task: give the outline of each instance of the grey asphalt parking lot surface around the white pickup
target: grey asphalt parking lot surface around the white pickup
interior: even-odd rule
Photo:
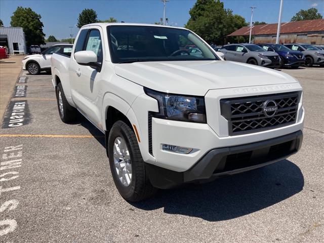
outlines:
[[[102,134],[82,116],[62,123],[51,76],[22,71],[1,129],[1,242],[323,242],[324,68],[282,71],[304,88],[298,154],[136,204],[114,186]]]

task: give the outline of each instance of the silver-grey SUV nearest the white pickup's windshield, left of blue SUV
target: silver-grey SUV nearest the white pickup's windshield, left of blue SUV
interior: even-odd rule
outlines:
[[[244,62],[270,68],[280,67],[280,58],[277,53],[265,51],[254,44],[225,45],[219,52],[224,53],[227,61]]]

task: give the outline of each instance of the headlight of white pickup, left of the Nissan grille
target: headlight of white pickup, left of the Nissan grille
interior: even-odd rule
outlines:
[[[207,123],[205,98],[201,96],[174,95],[144,88],[145,94],[157,100],[158,113],[163,119]]]

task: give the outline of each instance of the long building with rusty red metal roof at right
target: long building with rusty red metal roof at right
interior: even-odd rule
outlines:
[[[260,24],[252,27],[253,43],[275,43],[278,24]],[[249,36],[250,26],[242,27],[227,36]],[[324,19],[281,23],[280,44],[306,43],[324,45]]]

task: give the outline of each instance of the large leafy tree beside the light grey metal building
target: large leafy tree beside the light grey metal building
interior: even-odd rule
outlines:
[[[45,44],[45,34],[41,15],[35,13],[31,8],[18,7],[11,16],[12,27],[22,27],[26,36],[27,46]]]

